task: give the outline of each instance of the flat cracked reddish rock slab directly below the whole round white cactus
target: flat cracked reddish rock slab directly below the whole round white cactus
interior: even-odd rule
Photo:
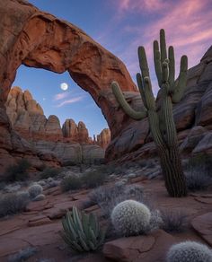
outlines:
[[[158,230],[149,235],[107,242],[103,254],[120,262],[164,262],[165,254],[173,243],[175,240],[170,234]]]

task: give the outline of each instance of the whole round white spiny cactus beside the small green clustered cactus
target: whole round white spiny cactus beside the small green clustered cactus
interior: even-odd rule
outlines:
[[[113,208],[111,222],[116,231],[124,236],[133,236],[146,231],[150,217],[151,213],[146,205],[135,200],[126,200]]]

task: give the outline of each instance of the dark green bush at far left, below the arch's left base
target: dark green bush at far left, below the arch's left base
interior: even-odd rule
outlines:
[[[31,168],[31,163],[22,159],[18,161],[16,164],[8,166],[5,171],[5,180],[6,181],[22,181],[29,178],[27,170]]]

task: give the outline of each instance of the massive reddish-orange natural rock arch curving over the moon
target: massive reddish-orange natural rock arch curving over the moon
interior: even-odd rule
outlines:
[[[112,137],[125,126],[110,91],[110,82],[119,81],[124,91],[137,92],[125,65],[75,25],[40,12],[22,0],[0,4],[0,88],[1,107],[20,65],[68,71],[75,83],[89,92],[102,109]]]

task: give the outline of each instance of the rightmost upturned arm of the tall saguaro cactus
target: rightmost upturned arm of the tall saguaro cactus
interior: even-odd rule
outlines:
[[[178,83],[174,90],[172,91],[172,102],[177,103],[181,100],[182,95],[185,90],[187,81],[187,71],[188,71],[188,57],[181,57],[181,70],[178,78]]]

